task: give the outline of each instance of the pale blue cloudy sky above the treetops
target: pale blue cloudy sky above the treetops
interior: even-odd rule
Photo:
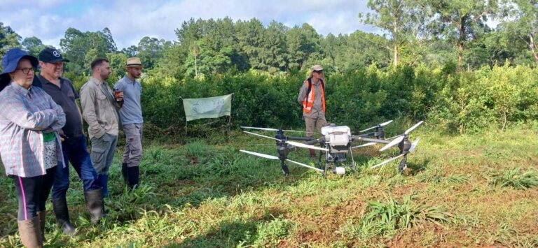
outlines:
[[[265,25],[275,20],[288,27],[308,23],[324,36],[357,30],[378,33],[375,27],[359,21],[359,13],[368,12],[366,3],[367,0],[0,0],[0,22],[22,38],[36,36],[43,44],[57,48],[69,27],[80,31],[108,27],[118,49],[122,49],[137,45],[144,36],[175,41],[175,29],[191,18],[256,18]]]

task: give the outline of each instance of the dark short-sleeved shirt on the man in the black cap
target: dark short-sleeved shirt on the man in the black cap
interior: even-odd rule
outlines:
[[[65,126],[62,128],[67,140],[69,138],[80,138],[83,136],[81,114],[78,112],[75,99],[78,99],[78,94],[74,89],[71,81],[60,78],[60,86],[57,87],[52,82],[49,82],[43,76],[39,75],[41,88],[49,94],[57,105],[60,105],[65,112]],[[38,86],[35,83],[34,86]]]

